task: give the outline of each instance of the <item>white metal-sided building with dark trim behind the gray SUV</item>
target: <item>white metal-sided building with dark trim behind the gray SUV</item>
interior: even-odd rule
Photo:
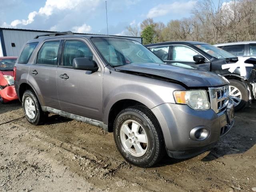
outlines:
[[[52,31],[26,30],[0,28],[0,57],[1,56],[19,56],[22,46],[37,35],[51,33]],[[77,33],[74,33],[77,34]],[[92,34],[93,35],[93,34]],[[141,37],[126,37],[142,43]]]

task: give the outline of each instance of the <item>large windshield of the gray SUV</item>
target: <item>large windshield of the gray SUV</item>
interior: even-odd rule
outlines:
[[[112,67],[127,64],[164,62],[137,41],[122,38],[92,38],[102,56]]]

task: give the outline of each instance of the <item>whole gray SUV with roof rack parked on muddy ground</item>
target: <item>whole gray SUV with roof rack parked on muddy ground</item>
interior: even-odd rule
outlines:
[[[114,133],[130,163],[149,167],[167,152],[189,158],[234,124],[228,81],[185,64],[166,65],[137,41],[45,34],[28,41],[14,68],[26,119],[55,113]]]

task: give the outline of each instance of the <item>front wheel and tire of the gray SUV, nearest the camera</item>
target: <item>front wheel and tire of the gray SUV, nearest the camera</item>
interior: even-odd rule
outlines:
[[[139,167],[151,167],[164,156],[160,126],[152,112],[145,107],[126,108],[117,115],[114,140],[124,159]]]

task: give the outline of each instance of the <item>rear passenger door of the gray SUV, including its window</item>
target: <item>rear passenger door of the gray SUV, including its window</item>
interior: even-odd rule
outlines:
[[[29,74],[32,76],[30,81],[37,90],[41,104],[56,109],[60,108],[56,86],[59,47],[60,40],[44,41],[29,68]]]

